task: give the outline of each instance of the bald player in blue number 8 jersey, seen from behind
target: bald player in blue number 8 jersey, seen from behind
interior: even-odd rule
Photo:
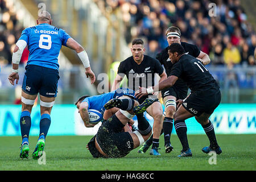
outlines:
[[[36,96],[40,94],[40,133],[38,143],[32,158],[38,159],[45,146],[46,135],[51,124],[51,109],[57,96],[57,83],[59,80],[58,56],[61,46],[76,51],[85,67],[85,74],[90,77],[91,84],[96,77],[90,69],[88,55],[84,48],[71,38],[64,30],[52,26],[51,14],[42,11],[36,20],[37,26],[22,31],[13,53],[13,71],[9,76],[12,85],[18,84],[18,66],[22,52],[26,46],[30,51],[26,65],[26,72],[22,84],[22,113],[20,115],[20,131],[22,147],[20,158],[28,158],[30,148],[28,137],[31,127],[31,110]]]

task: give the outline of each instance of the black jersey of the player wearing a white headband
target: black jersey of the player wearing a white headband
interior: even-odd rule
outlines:
[[[198,57],[200,55],[200,49],[193,44],[181,42],[181,46],[185,49],[185,52],[188,55],[192,55],[194,57]],[[160,64],[164,65],[164,68],[166,69],[167,77],[170,76],[173,64],[172,64],[171,60],[169,59],[168,47],[166,47],[165,49],[163,49],[163,51],[158,53],[156,55],[156,59],[158,59],[160,61]],[[176,81],[176,83],[174,84],[174,87],[177,90],[181,90],[183,92],[188,92],[187,84],[185,84],[185,82],[182,81],[181,79]]]

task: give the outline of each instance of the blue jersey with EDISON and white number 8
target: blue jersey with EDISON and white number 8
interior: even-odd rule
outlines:
[[[30,51],[27,65],[59,69],[60,49],[61,46],[67,46],[69,38],[71,36],[64,30],[43,23],[23,30],[19,40],[26,41]]]

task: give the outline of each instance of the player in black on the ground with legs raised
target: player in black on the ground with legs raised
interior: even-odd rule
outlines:
[[[130,99],[131,104],[127,104],[125,100],[117,98],[107,102],[104,105],[106,111],[113,107],[118,107],[119,110],[102,122],[97,134],[88,143],[90,154],[94,158],[122,158],[143,144],[152,134],[151,126],[143,117],[143,113],[156,101],[158,99],[147,98],[139,105],[139,102],[133,99]],[[135,115],[138,119],[138,130],[123,132],[123,127]]]

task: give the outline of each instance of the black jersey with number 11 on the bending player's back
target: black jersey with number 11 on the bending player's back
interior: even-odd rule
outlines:
[[[220,86],[203,63],[191,55],[182,55],[172,67],[171,75],[181,78],[191,89],[191,92],[211,88],[220,89]]]

